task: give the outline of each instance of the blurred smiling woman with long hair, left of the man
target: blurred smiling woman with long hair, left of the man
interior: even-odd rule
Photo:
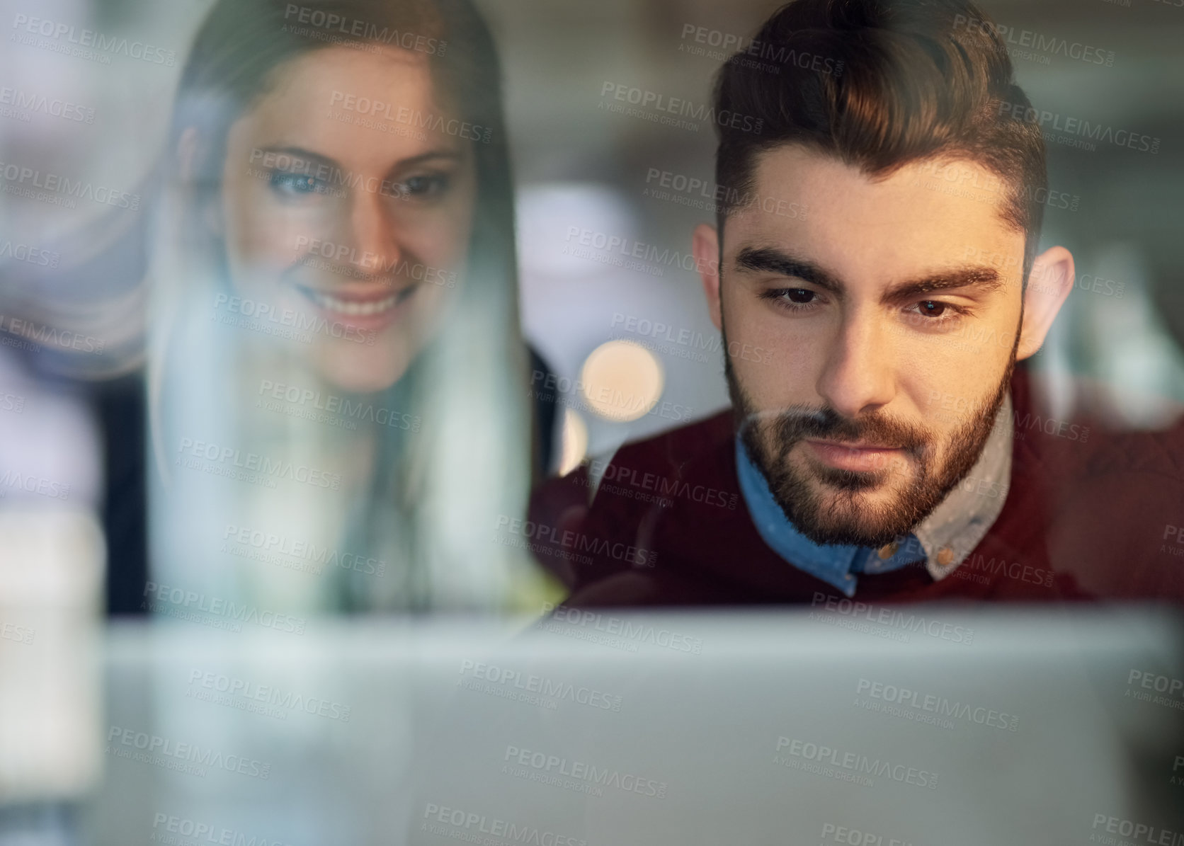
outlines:
[[[498,79],[466,0],[211,11],[153,269],[154,611],[546,595],[493,541],[532,476]]]

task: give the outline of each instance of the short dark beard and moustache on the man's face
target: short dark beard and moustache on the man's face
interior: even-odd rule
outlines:
[[[1010,390],[1018,340],[1017,332],[996,389],[971,409],[966,421],[948,437],[946,458],[940,466],[935,463],[940,443],[933,433],[879,413],[844,418],[832,408],[809,406],[758,411],[732,369],[726,331],[723,372],[741,441],[794,528],[815,543],[882,547],[921,523],[978,461]],[[912,459],[916,472],[908,473],[908,465],[902,461],[866,472],[817,464],[806,470],[794,467],[789,460],[790,451],[807,438],[896,446]],[[890,484],[897,473],[905,478],[910,476],[912,480],[892,502],[877,505],[858,502],[862,492]],[[825,493],[818,492],[819,485],[826,489]]]

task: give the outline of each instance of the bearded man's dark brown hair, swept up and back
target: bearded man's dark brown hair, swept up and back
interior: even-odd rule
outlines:
[[[793,0],[715,80],[715,181],[728,213],[754,196],[755,155],[798,143],[889,176],[913,162],[965,159],[1002,187],[999,213],[1024,232],[1027,283],[1047,194],[1044,142],[1025,115],[997,27],[966,0]],[[732,122],[740,124],[741,122]]]

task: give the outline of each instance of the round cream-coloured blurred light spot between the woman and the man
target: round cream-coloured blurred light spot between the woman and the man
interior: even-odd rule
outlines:
[[[600,344],[584,362],[584,399],[607,420],[637,420],[662,396],[662,364],[632,341]]]

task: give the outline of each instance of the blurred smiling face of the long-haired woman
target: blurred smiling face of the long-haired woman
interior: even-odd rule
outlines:
[[[423,53],[333,46],[282,65],[227,137],[232,308],[345,390],[397,382],[461,284],[474,129]]]

